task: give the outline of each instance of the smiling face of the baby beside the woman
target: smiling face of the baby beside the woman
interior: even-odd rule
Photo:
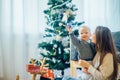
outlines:
[[[79,36],[80,36],[80,39],[82,39],[84,41],[88,41],[91,36],[89,29],[81,28],[79,30]]]

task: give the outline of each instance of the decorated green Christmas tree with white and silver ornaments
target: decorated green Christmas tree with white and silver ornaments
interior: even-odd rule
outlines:
[[[65,26],[74,28],[84,22],[75,21],[78,9],[72,0],[48,0],[47,5],[49,8],[44,10],[44,14],[48,26],[43,36],[47,41],[39,43],[38,48],[41,50],[40,55],[46,57],[49,68],[61,70],[64,75],[64,70],[70,67],[70,40]],[[77,30],[74,32],[77,34]]]

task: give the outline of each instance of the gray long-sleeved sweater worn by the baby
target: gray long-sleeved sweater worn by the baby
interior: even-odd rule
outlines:
[[[71,60],[78,60],[78,55],[79,59],[83,60],[93,60],[94,57],[94,51],[91,49],[90,44],[84,40],[79,40],[77,37],[74,36],[73,33],[70,33],[70,39],[73,45],[71,48],[74,48],[71,50]]]

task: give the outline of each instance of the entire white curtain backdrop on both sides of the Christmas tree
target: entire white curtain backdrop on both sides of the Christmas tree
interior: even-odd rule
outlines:
[[[38,58],[48,0],[0,0],[0,80],[30,80],[26,64]],[[120,0],[73,0],[77,20],[93,31],[97,25],[120,30]]]

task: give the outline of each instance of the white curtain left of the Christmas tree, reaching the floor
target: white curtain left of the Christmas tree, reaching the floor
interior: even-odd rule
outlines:
[[[30,80],[26,64],[38,58],[45,4],[41,0],[0,0],[0,79],[15,80],[19,74],[21,80]]]

